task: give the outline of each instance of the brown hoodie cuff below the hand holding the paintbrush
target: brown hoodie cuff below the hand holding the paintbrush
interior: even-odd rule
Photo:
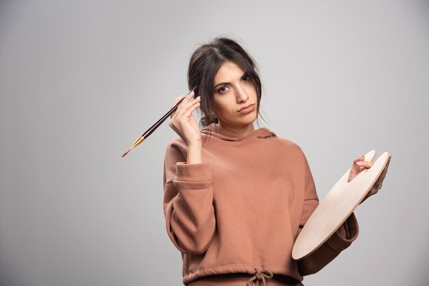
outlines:
[[[186,162],[177,162],[175,181],[212,181],[212,172],[210,170],[210,164],[186,164]]]

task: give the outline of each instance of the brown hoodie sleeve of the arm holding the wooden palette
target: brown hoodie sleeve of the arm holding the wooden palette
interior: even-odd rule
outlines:
[[[303,153],[304,155],[304,153]],[[304,172],[305,172],[305,188],[304,188],[304,208],[302,211],[301,220],[297,235],[301,232],[304,224],[310,218],[317,205],[319,198],[317,197],[315,182],[308,166],[308,161],[304,155]],[[322,244],[315,252],[312,252],[308,257],[297,261],[299,273],[302,276],[314,274],[321,270],[325,265],[330,263],[337,257],[342,250],[349,247],[352,242],[358,237],[359,227],[358,221],[354,213],[345,220],[343,224],[336,230],[331,237]],[[297,236],[296,236],[297,237]]]

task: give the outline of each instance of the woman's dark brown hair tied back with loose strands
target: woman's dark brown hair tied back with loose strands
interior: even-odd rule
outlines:
[[[240,66],[250,76],[256,88],[258,98],[257,111],[258,116],[260,116],[259,107],[262,96],[262,84],[254,60],[235,40],[218,37],[211,40],[208,44],[201,44],[195,49],[188,66],[188,88],[191,90],[197,86],[195,94],[201,96],[199,109],[201,110],[200,124],[203,127],[211,123],[219,123],[213,110],[213,81],[223,62],[227,61],[234,62],[234,64]]]

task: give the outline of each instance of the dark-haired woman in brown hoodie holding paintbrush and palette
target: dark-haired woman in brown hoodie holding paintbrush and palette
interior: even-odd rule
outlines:
[[[197,86],[199,97],[191,92],[171,115],[179,136],[164,159],[164,214],[182,252],[182,282],[303,285],[304,275],[356,239],[354,213],[312,255],[295,261],[293,242],[319,200],[302,149],[254,128],[262,96],[254,60],[234,40],[215,38],[193,53],[188,86]],[[201,131],[192,115],[198,107]],[[354,159],[349,181],[372,166],[363,159]],[[387,166],[367,197],[380,189]]]

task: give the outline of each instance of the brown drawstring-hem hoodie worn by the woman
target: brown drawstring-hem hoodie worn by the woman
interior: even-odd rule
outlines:
[[[180,137],[164,159],[164,215],[182,252],[184,285],[262,270],[302,281],[358,236],[352,213],[318,250],[295,261],[293,242],[319,204],[302,149],[265,127],[243,137],[213,123],[201,137],[203,163],[186,164]]]

